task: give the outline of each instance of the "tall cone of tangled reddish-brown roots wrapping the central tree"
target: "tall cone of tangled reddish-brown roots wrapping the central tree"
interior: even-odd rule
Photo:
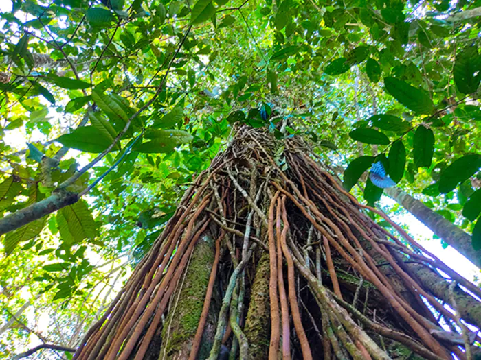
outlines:
[[[481,291],[305,148],[238,128],[74,359],[469,357]]]

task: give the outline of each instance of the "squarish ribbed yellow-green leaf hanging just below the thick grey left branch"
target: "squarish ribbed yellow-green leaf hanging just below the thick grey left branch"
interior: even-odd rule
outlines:
[[[57,224],[60,237],[67,245],[93,239],[97,235],[96,222],[84,200],[61,208],[57,213]]]

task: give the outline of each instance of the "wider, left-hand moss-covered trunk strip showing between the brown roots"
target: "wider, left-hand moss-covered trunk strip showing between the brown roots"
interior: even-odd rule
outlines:
[[[179,286],[170,304],[172,311],[169,311],[164,322],[161,337],[165,340],[159,352],[159,359],[188,359],[201,318],[214,254],[212,237],[201,237],[194,248],[186,278],[179,280]],[[216,328],[216,313],[219,312],[218,304],[219,295],[214,291],[198,359],[205,359],[209,354]]]

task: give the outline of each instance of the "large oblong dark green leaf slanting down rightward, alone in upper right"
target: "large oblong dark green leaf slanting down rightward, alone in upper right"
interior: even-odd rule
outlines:
[[[394,77],[384,78],[385,89],[406,108],[420,114],[431,114],[434,104],[429,94],[421,88],[415,88]]]

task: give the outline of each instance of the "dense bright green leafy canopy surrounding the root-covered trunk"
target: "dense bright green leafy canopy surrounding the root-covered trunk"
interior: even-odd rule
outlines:
[[[0,356],[33,334],[75,346],[237,123],[305,136],[370,204],[382,189],[362,175],[381,161],[481,248],[480,5],[14,1],[0,14],[0,214],[83,197],[2,235],[14,331]]]

